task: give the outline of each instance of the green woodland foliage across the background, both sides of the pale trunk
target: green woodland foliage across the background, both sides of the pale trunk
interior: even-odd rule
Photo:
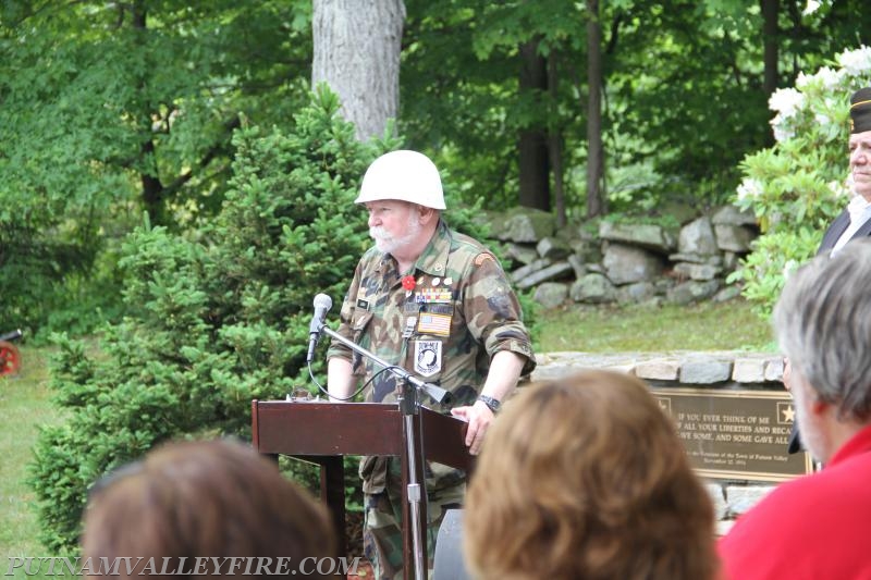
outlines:
[[[405,4],[396,126],[469,205],[517,203],[518,133],[542,129],[563,144],[567,212],[582,217],[592,90],[615,212],[722,202],[740,159],[772,143],[760,3],[600,2],[602,87],[586,79],[585,2]],[[871,42],[860,0],[806,5],[778,3],[778,86]],[[311,13],[310,0],[0,3],[2,326],[39,340],[123,316],[118,259],[142,212],[197,232],[228,190],[233,132],[286,132],[305,106]],[[553,91],[518,90],[528,44]]]

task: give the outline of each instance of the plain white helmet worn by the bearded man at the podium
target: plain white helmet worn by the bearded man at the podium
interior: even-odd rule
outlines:
[[[400,150],[384,153],[363,176],[355,203],[398,199],[426,208],[445,209],[442,181],[436,164],[424,153]]]

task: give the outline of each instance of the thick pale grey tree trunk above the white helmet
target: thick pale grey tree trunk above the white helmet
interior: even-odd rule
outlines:
[[[384,134],[400,107],[403,0],[314,0],[311,86],[327,83],[357,138]]]

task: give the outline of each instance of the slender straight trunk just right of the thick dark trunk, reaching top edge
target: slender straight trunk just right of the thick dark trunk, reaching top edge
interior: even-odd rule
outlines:
[[[599,0],[587,0],[587,217],[605,212],[601,190],[604,174],[602,150],[602,24]]]

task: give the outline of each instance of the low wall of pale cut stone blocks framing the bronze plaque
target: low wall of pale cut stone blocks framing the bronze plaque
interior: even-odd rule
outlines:
[[[643,379],[652,386],[711,390],[783,390],[783,359],[773,353],[548,353],[538,355],[532,380],[557,379],[584,369],[610,369]],[[751,508],[774,484],[709,480],[708,491],[717,517],[717,533]]]

